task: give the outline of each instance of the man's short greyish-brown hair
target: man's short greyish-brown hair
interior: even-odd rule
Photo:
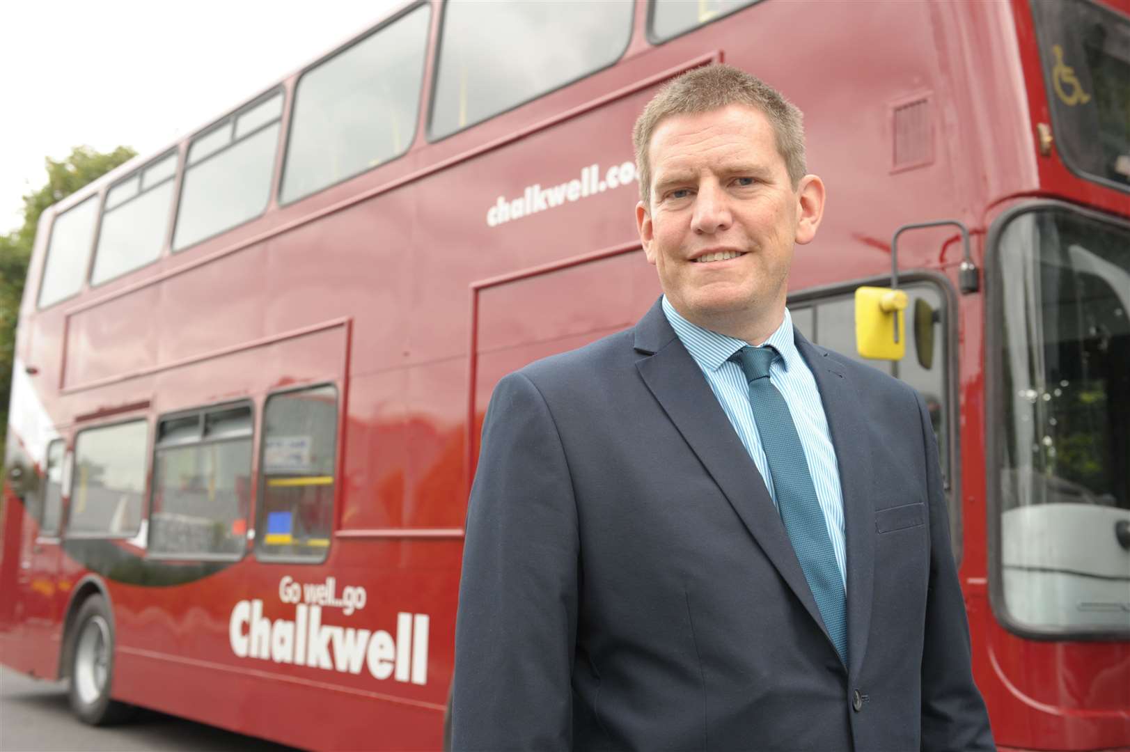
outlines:
[[[651,155],[649,148],[655,128],[672,115],[697,114],[740,104],[760,111],[776,137],[777,153],[784,159],[792,187],[805,176],[803,113],[780,92],[733,66],[713,64],[695,68],[669,81],[640,113],[632,140],[635,144],[640,198],[651,206]]]

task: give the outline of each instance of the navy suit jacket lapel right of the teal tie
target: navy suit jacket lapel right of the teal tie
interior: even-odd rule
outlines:
[[[855,384],[846,369],[827,351],[817,349],[798,331],[797,347],[820,390],[832,444],[840,468],[844,503],[844,537],[847,547],[847,655],[849,675],[857,675],[867,650],[871,625],[875,580],[875,510],[871,499],[871,455]]]

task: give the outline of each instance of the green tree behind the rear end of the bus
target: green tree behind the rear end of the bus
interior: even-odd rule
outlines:
[[[35,230],[40,215],[55,201],[70,196],[87,183],[97,180],[118,165],[137,155],[133,149],[119,146],[108,154],[88,146],[71,150],[66,159],[46,159],[47,183],[24,197],[24,224],[0,235],[0,457],[5,457],[8,426],[8,399],[11,392],[11,366],[16,351],[16,325],[19,301],[24,295],[27,263],[35,245]]]

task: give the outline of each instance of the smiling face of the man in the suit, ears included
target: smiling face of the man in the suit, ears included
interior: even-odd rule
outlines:
[[[641,202],[636,221],[668,300],[728,334],[762,321],[775,328],[793,244],[809,242],[819,224],[819,178],[806,175],[793,190],[773,127],[744,105],[663,120],[650,156],[651,208]]]

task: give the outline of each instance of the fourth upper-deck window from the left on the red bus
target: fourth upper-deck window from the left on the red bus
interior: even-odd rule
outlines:
[[[298,80],[281,201],[408,150],[416,135],[429,6],[339,52]]]

